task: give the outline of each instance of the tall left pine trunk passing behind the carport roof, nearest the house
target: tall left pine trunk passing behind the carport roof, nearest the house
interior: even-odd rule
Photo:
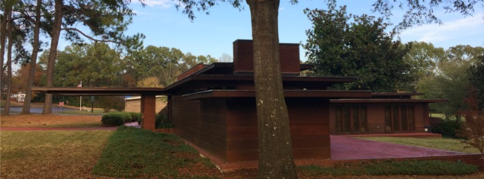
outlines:
[[[47,64],[47,87],[54,86],[55,58],[57,57],[57,45],[59,44],[59,37],[62,25],[62,3],[62,0],[55,0],[54,27],[52,29],[52,40],[50,41],[50,51],[48,54]],[[52,94],[46,93],[44,111],[42,111],[42,114],[50,113],[52,113]]]

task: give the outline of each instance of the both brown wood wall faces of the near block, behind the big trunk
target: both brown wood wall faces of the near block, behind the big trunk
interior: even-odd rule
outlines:
[[[173,99],[177,135],[222,163],[257,161],[253,97]],[[295,159],[330,159],[328,100],[286,98],[286,103]]]

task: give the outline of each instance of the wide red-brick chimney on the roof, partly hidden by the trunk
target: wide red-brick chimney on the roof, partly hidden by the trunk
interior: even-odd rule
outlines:
[[[281,73],[299,75],[299,44],[279,44]],[[254,57],[251,40],[234,41],[234,73],[253,73]]]

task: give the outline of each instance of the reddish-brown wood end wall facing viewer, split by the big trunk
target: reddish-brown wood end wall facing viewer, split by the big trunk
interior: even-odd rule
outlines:
[[[329,159],[328,102],[286,98],[295,159]],[[257,160],[257,115],[254,98],[227,100],[227,162]]]

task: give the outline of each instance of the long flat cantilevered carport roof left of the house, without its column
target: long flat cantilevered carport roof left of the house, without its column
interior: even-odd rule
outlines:
[[[165,88],[47,88],[34,87],[32,91],[59,95],[168,95]]]

